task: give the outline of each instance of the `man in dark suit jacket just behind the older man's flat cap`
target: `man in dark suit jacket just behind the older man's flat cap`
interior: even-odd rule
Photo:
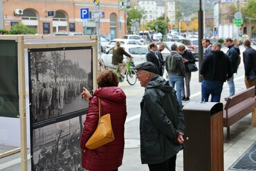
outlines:
[[[158,57],[159,55],[156,54],[157,50],[157,45],[156,43],[150,43],[149,44],[149,52],[146,54],[147,61],[152,62],[156,65],[157,67],[157,73],[158,75],[163,75],[162,74],[162,61],[161,57]]]

